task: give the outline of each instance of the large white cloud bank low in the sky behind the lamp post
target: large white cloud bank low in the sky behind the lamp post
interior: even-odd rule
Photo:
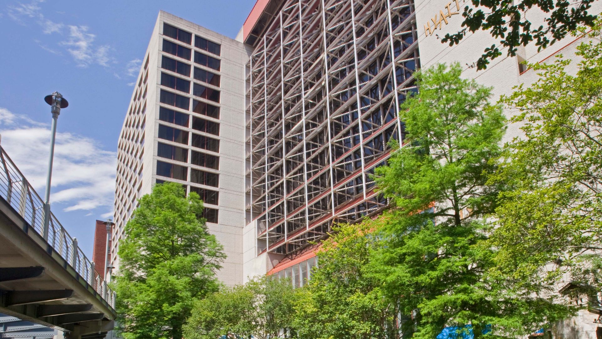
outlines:
[[[1,107],[0,122],[2,147],[42,194],[46,183],[50,128],[47,125],[40,127],[43,124]],[[98,141],[58,132],[51,203],[66,206],[65,212],[101,209],[112,215],[116,166],[116,153],[102,150]]]

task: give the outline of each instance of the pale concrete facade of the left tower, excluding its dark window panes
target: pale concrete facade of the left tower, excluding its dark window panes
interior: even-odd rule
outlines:
[[[181,40],[164,36],[164,24],[171,25],[185,33],[190,33],[191,41],[184,43]],[[220,55],[196,48],[194,41],[199,38],[219,44]],[[190,56],[182,58],[163,51],[164,40],[189,49]],[[195,54],[201,52],[205,57],[220,60],[219,70],[195,62]],[[114,246],[111,249],[111,260],[116,267],[119,267],[117,240],[123,238],[123,227],[137,207],[137,200],[142,195],[150,193],[152,186],[157,182],[178,182],[185,186],[187,192],[190,192],[191,189],[205,189],[211,191],[211,194],[217,192],[217,198],[213,195],[215,201],[205,199],[205,206],[213,211],[217,210],[217,223],[215,220],[208,220],[207,227],[209,232],[216,235],[217,240],[224,246],[225,253],[228,256],[222,264],[223,268],[219,271],[218,277],[227,285],[241,284],[243,282],[241,253],[243,252],[244,225],[244,215],[241,209],[244,199],[242,157],[244,153],[244,113],[241,107],[244,107],[243,74],[244,63],[248,57],[246,49],[240,42],[161,11],[144,55],[143,65],[135,84],[134,93],[132,93],[132,100],[128,107],[118,145],[119,165],[117,167],[115,198],[116,227],[113,232]],[[182,74],[184,72],[170,71],[163,68],[164,57],[178,62],[178,67],[187,65],[189,68],[188,74],[185,75]],[[196,79],[195,69],[219,75],[219,86]],[[190,86],[188,91],[184,92],[163,86],[161,84],[162,77],[165,75],[162,74],[169,75],[172,79],[175,77],[178,79],[177,81],[187,82]],[[200,91],[197,95],[193,95],[193,92],[196,91],[194,84],[206,87],[206,89],[203,89],[203,94],[208,93],[209,90],[219,90],[219,103],[204,100],[197,96],[200,95]],[[188,109],[185,108],[184,104],[180,105],[184,107],[182,108],[173,106],[173,103],[161,103],[162,90],[170,95],[178,95],[177,100],[184,100],[182,98],[185,98],[188,101]],[[219,117],[213,118],[192,112],[196,107],[194,106],[195,101],[219,107]],[[160,116],[161,107],[187,115],[188,122],[182,125],[178,122],[162,120]],[[198,127],[194,128],[193,119],[198,119],[199,124],[202,122],[203,128],[209,124],[213,127],[219,124],[219,127],[217,127],[217,130],[209,131],[210,133],[200,131]],[[165,127],[170,128],[170,130],[177,130],[174,133],[187,133],[187,140],[169,141],[161,138],[160,128]],[[216,140],[219,142],[219,147],[213,148],[213,151],[195,147],[193,140],[199,137]],[[177,147],[173,149],[173,152],[175,150],[185,150],[187,159],[179,159],[185,160],[179,161],[160,156],[161,151],[158,149],[160,144],[161,147],[166,147],[166,145],[167,147]],[[196,146],[199,145],[200,142]],[[206,157],[205,154],[213,156],[211,159],[219,157],[219,166],[212,165],[213,168],[208,168],[195,165],[192,161],[193,154],[199,153],[202,153],[203,157]],[[159,172],[157,170],[158,163],[160,164]],[[173,173],[167,174],[164,173],[164,170],[161,171],[161,168],[166,166],[173,166]],[[176,177],[174,174],[176,168],[178,170],[185,168],[185,173]],[[203,183],[197,183],[201,180],[193,179],[193,176],[196,176],[193,172],[200,173],[198,177],[202,175],[203,178],[206,178],[205,173],[209,173],[208,175],[212,177],[217,174],[219,179],[214,183],[206,182],[205,180],[208,179],[203,179],[202,182],[207,184],[203,185]]]

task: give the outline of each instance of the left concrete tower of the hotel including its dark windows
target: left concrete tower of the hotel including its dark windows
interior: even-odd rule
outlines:
[[[246,47],[161,11],[143,58],[118,144],[111,262],[137,200],[177,182],[200,195],[228,255],[220,280],[241,284]]]

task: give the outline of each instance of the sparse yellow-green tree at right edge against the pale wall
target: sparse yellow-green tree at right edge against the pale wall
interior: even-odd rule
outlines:
[[[580,62],[530,64],[539,80],[503,98],[524,136],[492,177],[512,189],[500,196],[491,241],[498,270],[534,293],[557,291],[567,271],[602,290],[601,24],[578,46]]]

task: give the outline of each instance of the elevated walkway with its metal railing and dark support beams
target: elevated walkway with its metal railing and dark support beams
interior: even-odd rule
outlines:
[[[43,207],[0,145],[0,338],[42,338],[40,325],[67,338],[104,338],[115,293],[52,214],[44,234]]]

